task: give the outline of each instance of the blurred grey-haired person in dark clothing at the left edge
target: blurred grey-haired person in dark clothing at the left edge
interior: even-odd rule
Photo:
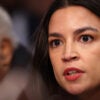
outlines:
[[[0,7],[0,100],[18,100],[29,82],[30,59],[31,53],[12,30],[10,16]]]

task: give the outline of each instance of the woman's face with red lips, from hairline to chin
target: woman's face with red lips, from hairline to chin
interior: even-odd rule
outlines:
[[[57,10],[49,23],[56,80],[71,94],[100,85],[100,18],[81,6]]]

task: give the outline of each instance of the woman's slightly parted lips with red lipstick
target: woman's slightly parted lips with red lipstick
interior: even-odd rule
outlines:
[[[78,78],[80,78],[83,73],[84,73],[84,71],[82,71],[78,68],[71,67],[71,68],[65,69],[63,75],[64,75],[66,80],[75,81]]]

